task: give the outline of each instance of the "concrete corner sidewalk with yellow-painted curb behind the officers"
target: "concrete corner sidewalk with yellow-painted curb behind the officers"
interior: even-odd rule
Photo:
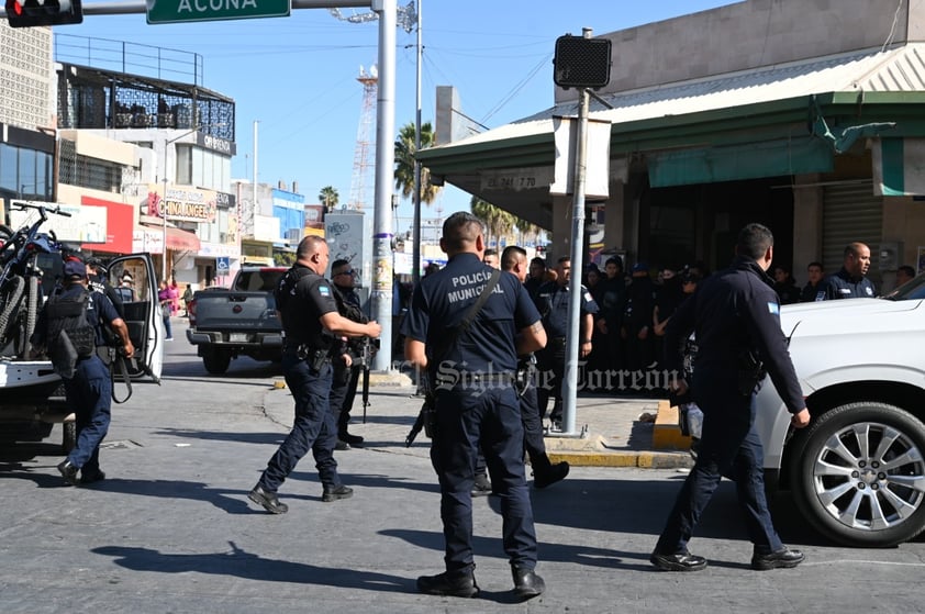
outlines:
[[[417,417],[423,399],[400,378],[376,377],[369,391],[364,422],[357,393],[350,433],[363,436],[364,449],[426,457],[430,440],[420,433],[414,444],[404,440]],[[264,411],[275,422],[292,425],[292,395],[281,376],[267,391]],[[656,423],[658,422],[658,424]],[[579,397],[575,436],[547,435],[546,449],[553,461],[567,460],[586,467],[640,467],[651,469],[691,467],[687,440],[677,427],[677,414],[659,399],[625,399],[605,395]]]

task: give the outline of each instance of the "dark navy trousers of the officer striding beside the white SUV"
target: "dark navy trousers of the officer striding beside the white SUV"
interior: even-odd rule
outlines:
[[[781,549],[783,544],[774,531],[765,495],[765,453],[755,432],[755,394],[738,393],[735,373],[721,378],[698,378],[694,373],[692,390],[703,410],[703,437],[696,462],[678,493],[656,551],[687,551],[700,515],[724,475],[735,481],[748,537],[756,550]]]

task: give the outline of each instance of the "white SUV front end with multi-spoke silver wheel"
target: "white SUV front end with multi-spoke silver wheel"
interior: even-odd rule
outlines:
[[[890,546],[925,528],[925,276],[885,299],[788,305],[781,326],[813,415],[766,380],[756,428],[769,485],[792,491],[823,535]]]

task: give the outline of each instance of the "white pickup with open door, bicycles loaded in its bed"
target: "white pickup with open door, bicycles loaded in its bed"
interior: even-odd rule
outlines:
[[[133,288],[125,289],[123,293],[129,299],[123,303],[125,323],[135,346],[135,367],[130,368],[129,377],[133,382],[145,379],[159,382],[164,322],[159,316],[157,282],[151,256],[122,256],[108,266],[114,286],[119,284],[124,271],[130,271],[134,278]],[[53,269],[43,272],[54,277]],[[118,376],[116,392],[124,390],[123,386]],[[0,445],[42,440],[51,435],[56,423],[64,424],[63,446],[69,450],[74,446],[74,414],[65,402],[62,380],[52,370],[52,364],[26,360],[9,351],[5,356],[0,355]]]

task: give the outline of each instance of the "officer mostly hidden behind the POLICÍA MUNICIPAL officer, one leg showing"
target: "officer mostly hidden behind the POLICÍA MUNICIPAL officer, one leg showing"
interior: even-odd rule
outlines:
[[[523,283],[527,276],[526,252],[510,245],[501,253],[501,270],[512,273]],[[546,488],[568,476],[567,461],[553,465],[543,442],[543,418],[536,398],[536,359],[533,353],[517,357],[517,390],[521,395],[521,421],[524,424],[524,449],[533,468],[533,485]]]

